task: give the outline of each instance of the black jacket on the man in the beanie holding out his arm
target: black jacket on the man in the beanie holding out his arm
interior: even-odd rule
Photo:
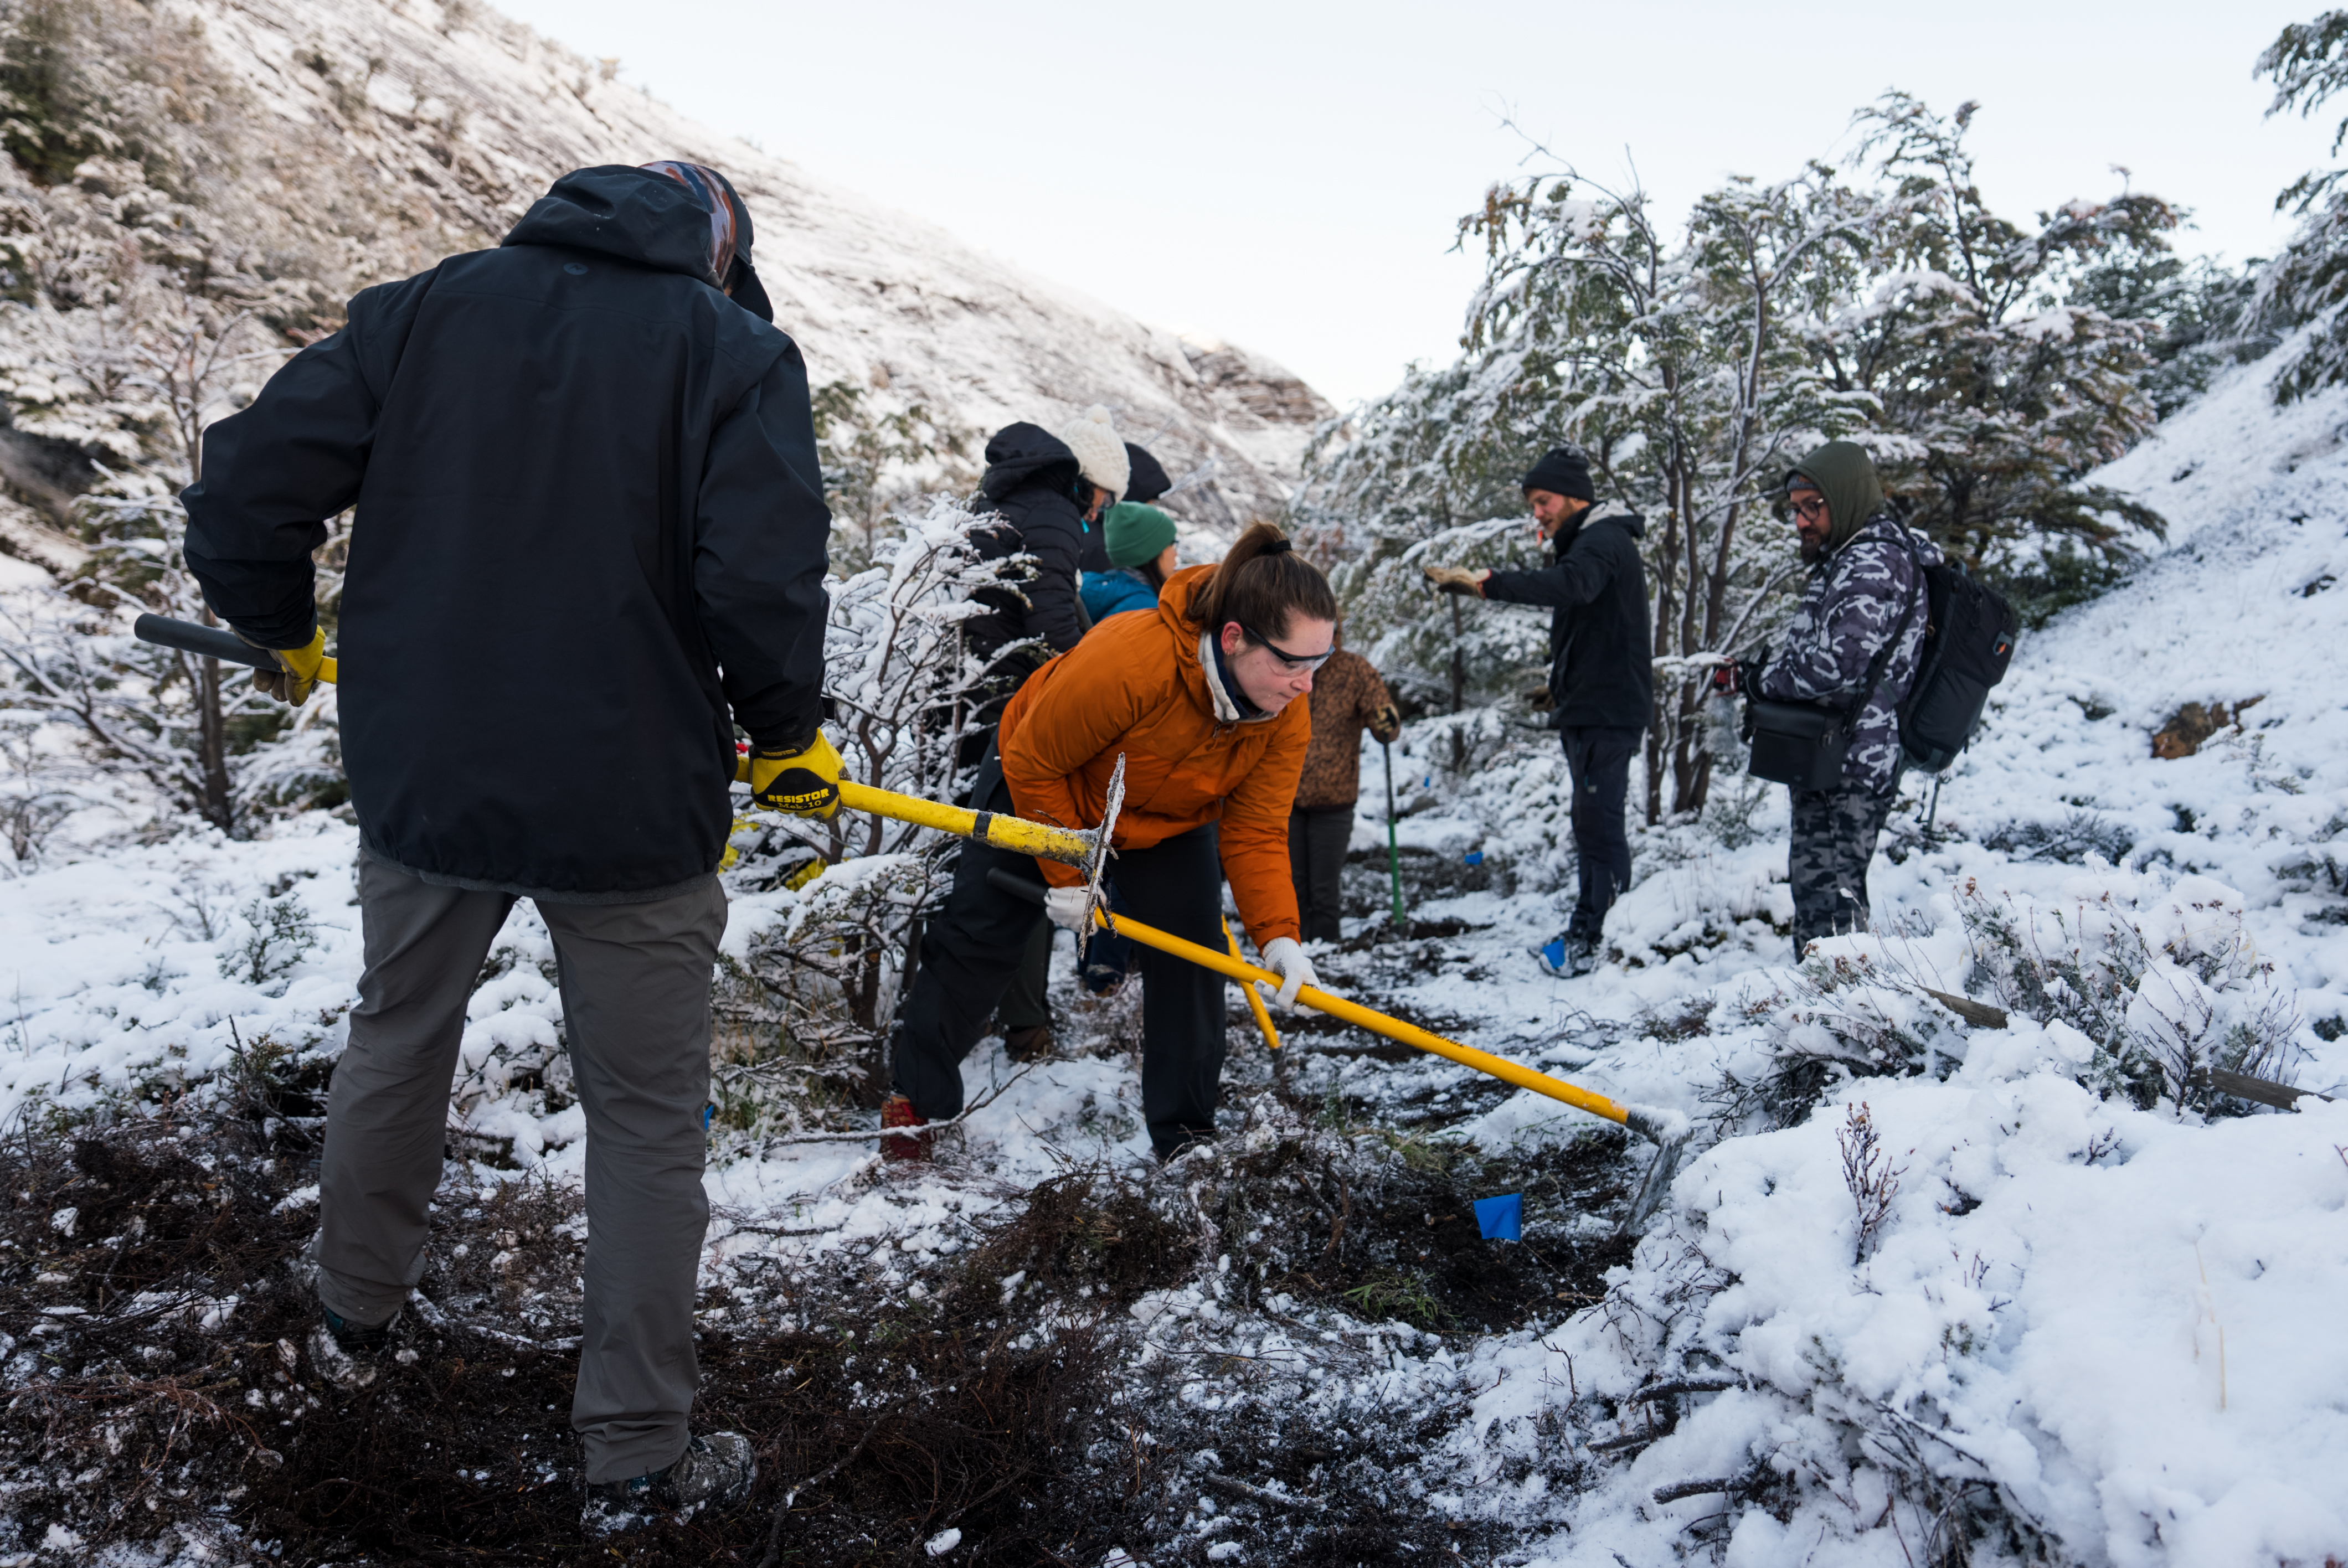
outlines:
[[[1646,624],[1646,563],[1637,512],[1592,507],[1557,533],[1557,561],[1493,573],[1484,599],[1545,603],[1550,615],[1550,723],[1559,730],[1644,730],[1655,704],[1655,638]]]

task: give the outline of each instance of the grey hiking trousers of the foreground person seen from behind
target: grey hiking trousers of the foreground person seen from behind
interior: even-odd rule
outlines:
[[[317,1293],[380,1324],[425,1272],[465,1000],[514,897],[359,861],[366,969],[333,1068],[319,1162]],[[700,1366],[693,1282],[709,1199],[709,969],[726,892],[538,904],[561,962],[564,1035],[587,1108],[587,1300],[571,1427],[587,1481],[686,1448]]]

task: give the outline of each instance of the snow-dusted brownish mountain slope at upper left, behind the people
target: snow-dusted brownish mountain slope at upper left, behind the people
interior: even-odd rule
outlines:
[[[1108,404],[1125,434],[1183,481],[1172,505],[1226,533],[1280,505],[1313,423],[1329,413],[1247,350],[1146,326],[824,185],[787,155],[697,124],[690,103],[606,80],[596,63],[474,0],[120,9],[92,9],[110,33],[68,35],[63,47],[153,54],[129,75],[190,141],[183,178],[120,150],[59,169],[68,178],[0,160],[0,232],[12,235],[0,249],[19,258],[12,272],[54,270],[94,246],[185,265],[178,246],[202,254],[200,277],[209,268],[254,293],[308,293],[331,319],[371,282],[495,244],[564,169],[674,155],[716,164],[742,190],[777,326],[798,338],[812,380],[866,390],[878,408],[920,404],[984,439],[1010,420],[1059,423]],[[54,284],[12,277],[9,293],[35,303],[0,315],[0,378],[19,430],[103,451],[63,408],[45,415],[45,404],[75,397],[59,366],[42,364],[54,359],[40,319]],[[66,293],[54,303],[68,310],[115,293],[113,310],[131,315],[115,284]],[[127,324],[117,319],[115,336]],[[977,458],[972,441],[965,460]],[[0,439],[16,500],[61,514],[61,477],[40,472],[45,462],[75,458]],[[75,563],[70,545],[35,533],[38,516],[0,512],[0,549]]]

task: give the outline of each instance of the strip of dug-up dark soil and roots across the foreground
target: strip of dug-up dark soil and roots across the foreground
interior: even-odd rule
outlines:
[[[1251,1136],[1167,1171],[998,1195],[913,1282],[855,1246],[723,1270],[702,1296],[697,1425],[751,1434],[758,1491],[629,1535],[627,1561],[927,1561],[946,1533],[963,1563],[1463,1545],[1413,1505],[1449,1401],[1362,1420],[1350,1378],[1381,1336],[1435,1345],[1590,1300],[1620,1244],[1536,1225],[1493,1246],[1472,1195],[1510,1181],[1536,1209],[1604,1207],[1618,1150],[1500,1169],[1397,1134],[1275,1129],[1270,1096],[1247,1115]],[[303,1350],[308,1143],[286,1120],[204,1115],[7,1145],[0,1554],[613,1561],[578,1526],[575,1192],[451,1167],[402,1354],[343,1394]],[[737,1235],[761,1230],[789,1228]],[[1202,1352],[1202,1329],[1256,1350]]]

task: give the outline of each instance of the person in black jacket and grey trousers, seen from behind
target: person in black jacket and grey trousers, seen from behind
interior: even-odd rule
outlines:
[[[829,512],[798,347],[714,169],[578,169],[493,251],[359,293],[204,434],[188,566],[303,699],[310,552],[357,507],[340,728],[366,967],[319,1167],[315,1371],[397,1376],[465,998],[517,897],[561,962],[587,1113],[587,1521],[747,1495],[695,1437],[709,972],[735,725],[751,786],[838,803]]]

